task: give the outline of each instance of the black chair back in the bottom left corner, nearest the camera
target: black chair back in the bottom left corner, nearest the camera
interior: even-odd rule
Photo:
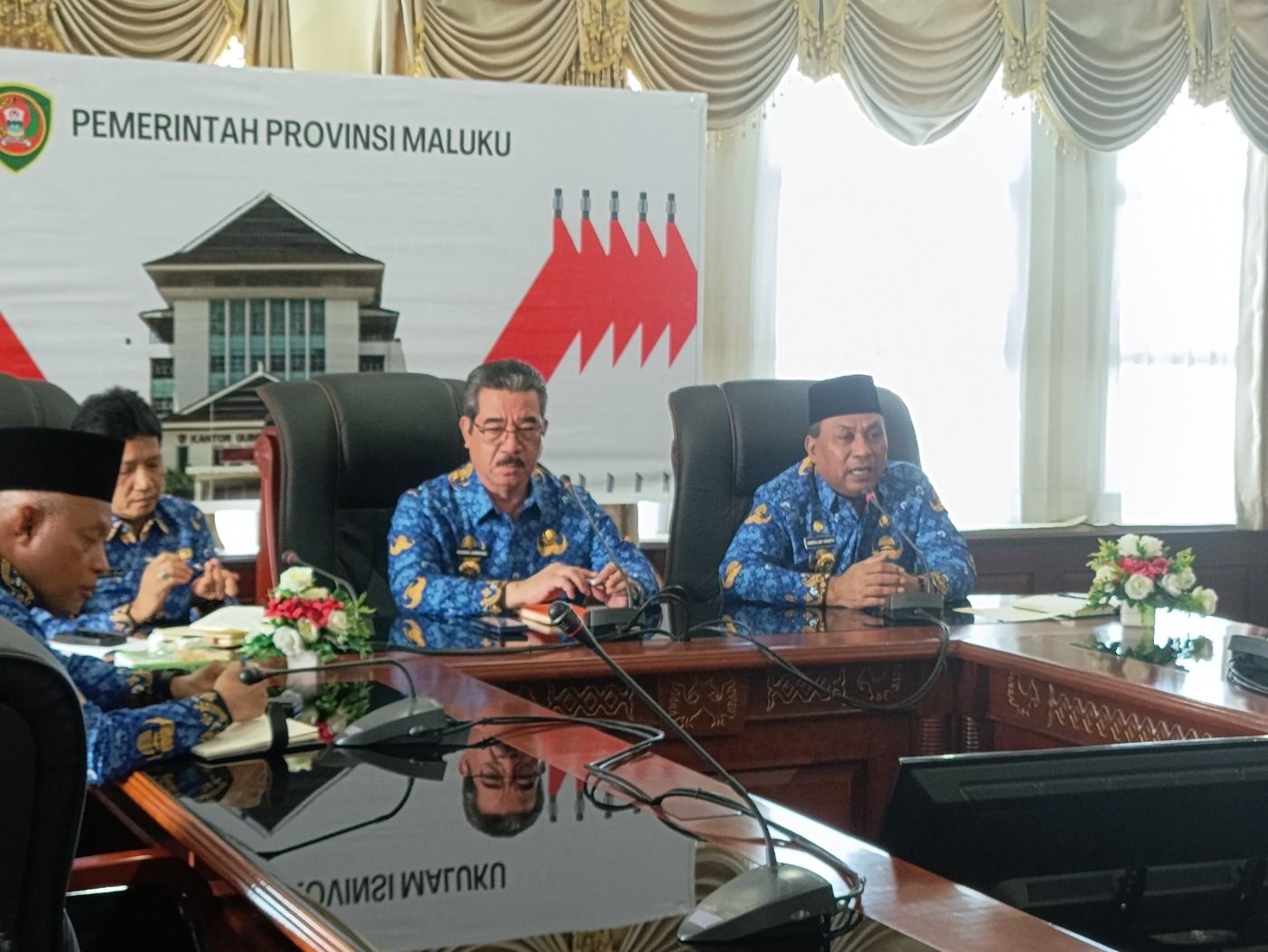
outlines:
[[[65,903],[84,813],[84,716],[57,659],[3,619],[0,737],[0,949],[77,948]]]

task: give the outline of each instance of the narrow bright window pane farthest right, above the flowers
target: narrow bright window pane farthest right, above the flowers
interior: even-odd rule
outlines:
[[[1246,138],[1181,93],[1118,153],[1118,363],[1106,482],[1125,524],[1232,522],[1238,294]],[[1183,492],[1159,478],[1200,475]]]

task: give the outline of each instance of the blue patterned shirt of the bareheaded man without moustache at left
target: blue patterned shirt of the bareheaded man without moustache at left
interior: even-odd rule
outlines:
[[[176,553],[189,563],[194,578],[203,574],[208,559],[216,558],[212,531],[207,517],[191,502],[175,496],[160,496],[158,505],[137,532],[118,516],[110,517],[110,536],[105,540],[105,558],[110,568],[96,581],[96,589],[84,602],[74,619],[58,619],[37,608],[36,617],[48,638],[62,631],[128,633],[132,621],[127,608],[141,588],[141,576],[155,556]],[[227,598],[232,602],[232,598]],[[194,593],[189,584],[172,586],[153,624],[188,624],[191,620]]]

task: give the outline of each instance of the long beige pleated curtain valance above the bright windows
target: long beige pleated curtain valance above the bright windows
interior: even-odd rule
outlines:
[[[1137,139],[1187,79],[1268,150],[1264,0],[399,1],[417,75],[619,86],[629,67],[708,93],[714,129],[761,109],[795,57],[910,145],[954,129],[1003,67],[1008,93],[1090,148]]]

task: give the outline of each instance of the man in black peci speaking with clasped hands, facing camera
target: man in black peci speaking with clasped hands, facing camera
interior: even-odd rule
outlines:
[[[967,596],[969,545],[924,473],[888,461],[872,379],[820,380],[809,404],[806,458],[753,494],[718,569],[724,597],[874,608],[898,592]]]

